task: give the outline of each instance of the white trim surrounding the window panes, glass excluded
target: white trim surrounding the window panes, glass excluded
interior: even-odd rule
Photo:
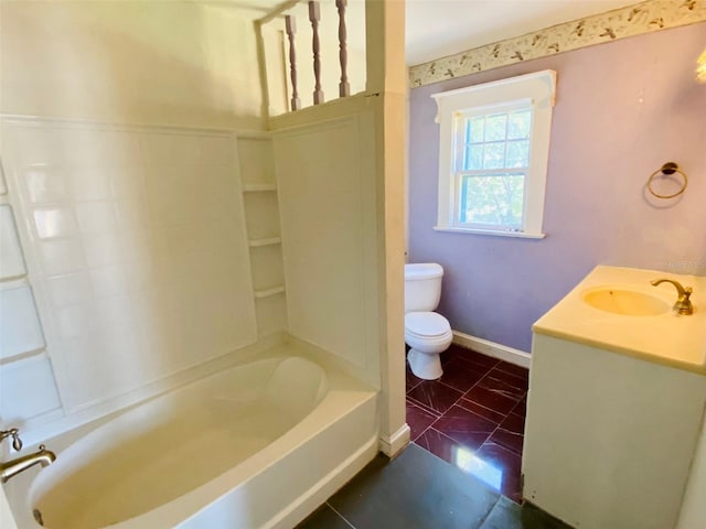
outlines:
[[[436,230],[535,239],[545,236],[542,231],[542,222],[555,96],[556,72],[553,69],[431,95],[437,102],[436,122],[440,125],[439,198]],[[534,107],[531,164],[525,180],[524,230],[459,227],[456,219],[456,199],[459,190],[457,190],[458,184],[452,162],[456,141],[454,117],[462,111],[468,111],[468,109],[482,110],[482,107],[494,107],[518,100],[530,100]]]

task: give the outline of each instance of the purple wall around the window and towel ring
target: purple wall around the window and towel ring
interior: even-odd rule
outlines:
[[[443,266],[439,312],[454,330],[528,352],[532,324],[596,264],[706,274],[706,85],[694,75],[704,47],[699,23],[411,89],[409,262]],[[547,237],[434,231],[439,126],[429,95],[547,68],[558,73]],[[689,185],[657,201],[645,183],[667,161]]]

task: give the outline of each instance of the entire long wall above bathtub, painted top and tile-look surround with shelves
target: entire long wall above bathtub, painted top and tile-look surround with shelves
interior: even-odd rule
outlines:
[[[30,444],[287,320],[248,14],[0,10],[0,423]]]

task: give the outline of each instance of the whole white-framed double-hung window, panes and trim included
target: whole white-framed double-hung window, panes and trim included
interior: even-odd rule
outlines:
[[[438,230],[542,238],[553,71],[435,94]]]

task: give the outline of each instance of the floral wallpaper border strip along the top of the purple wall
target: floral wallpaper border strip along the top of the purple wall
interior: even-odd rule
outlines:
[[[648,0],[409,68],[413,88],[627,36],[706,21],[706,0]],[[706,43],[705,43],[706,44]]]

